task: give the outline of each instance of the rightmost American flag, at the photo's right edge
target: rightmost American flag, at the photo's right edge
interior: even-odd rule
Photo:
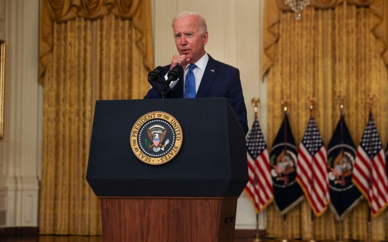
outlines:
[[[358,145],[352,182],[368,200],[372,216],[388,205],[386,160],[372,113]]]

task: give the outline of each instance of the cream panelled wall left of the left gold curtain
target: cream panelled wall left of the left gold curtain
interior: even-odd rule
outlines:
[[[38,226],[42,122],[38,20],[39,0],[0,0],[0,38],[6,41],[0,228]]]

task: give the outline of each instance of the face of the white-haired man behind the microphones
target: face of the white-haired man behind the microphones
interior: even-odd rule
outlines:
[[[197,62],[205,54],[208,31],[203,34],[199,32],[196,16],[177,19],[173,29],[179,55],[186,55],[192,64]]]

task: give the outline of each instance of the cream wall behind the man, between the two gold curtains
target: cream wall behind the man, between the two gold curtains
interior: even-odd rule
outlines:
[[[254,113],[251,99],[261,100],[259,121],[266,135],[266,85],[261,81],[261,45],[264,0],[152,0],[155,66],[171,62],[177,53],[171,20],[179,12],[202,14],[209,31],[205,50],[215,59],[240,69],[242,89],[251,127]],[[265,212],[264,212],[265,213]],[[260,228],[265,228],[265,214],[260,214]],[[243,193],[238,200],[236,228],[254,229],[256,214]]]

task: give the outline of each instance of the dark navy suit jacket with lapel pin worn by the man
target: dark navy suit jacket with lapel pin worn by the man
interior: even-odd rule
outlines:
[[[170,65],[163,67],[164,74],[170,70]],[[164,74],[161,79],[164,81]],[[162,84],[157,83],[158,88],[162,90]],[[166,98],[183,98],[183,74],[179,76],[178,83],[166,90]],[[246,107],[240,81],[240,71],[232,66],[226,65],[210,57],[203,74],[201,84],[199,85],[196,98],[217,98],[224,97],[229,100],[237,119],[240,121],[245,135],[248,133],[246,118]],[[158,99],[159,93],[151,88],[145,99]]]

